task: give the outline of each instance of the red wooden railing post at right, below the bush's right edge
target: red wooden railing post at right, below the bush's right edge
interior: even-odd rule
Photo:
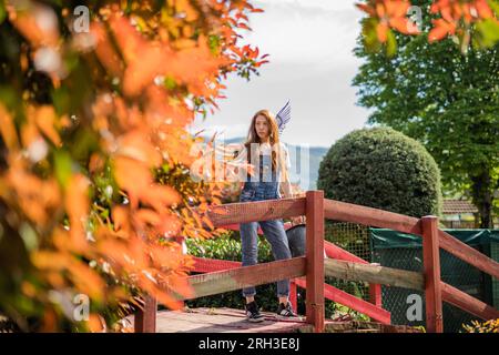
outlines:
[[[440,285],[440,246],[438,241],[438,217],[421,217],[422,263],[425,273],[426,327],[428,333],[442,333]]]

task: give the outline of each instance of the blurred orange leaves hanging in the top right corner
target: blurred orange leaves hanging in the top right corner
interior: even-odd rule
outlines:
[[[497,0],[365,0],[356,6],[368,14],[361,20],[361,37],[369,52],[384,50],[393,57],[397,34],[424,37],[430,43],[451,38],[462,53],[499,42]]]

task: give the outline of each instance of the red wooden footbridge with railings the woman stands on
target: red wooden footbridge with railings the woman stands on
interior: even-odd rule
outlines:
[[[495,307],[440,280],[440,247],[496,278],[499,278],[499,263],[439,230],[436,216],[416,219],[327,200],[324,199],[323,191],[307,191],[305,197],[297,199],[217,205],[213,206],[208,212],[208,216],[215,226],[226,229],[237,229],[240,223],[301,215],[306,216],[307,240],[305,256],[244,267],[238,262],[195,257],[194,272],[203,274],[189,276],[189,283],[194,291],[192,298],[197,298],[241,290],[249,285],[256,286],[283,278],[291,278],[291,298],[294,305],[296,305],[296,286],[307,291],[305,301],[306,315],[303,322],[297,321],[295,324],[291,324],[293,322],[279,322],[276,324],[275,320],[267,315],[267,322],[263,327],[238,327],[237,324],[242,324],[241,322],[244,317],[243,312],[241,311],[238,314],[237,311],[224,310],[222,315],[225,313],[225,316],[233,317],[232,322],[231,318],[227,318],[227,324],[232,324],[232,327],[221,324],[221,328],[228,332],[238,329],[248,332],[286,332],[307,325],[314,332],[324,332],[328,324],[325,321],[325,298],[363,313],[379,325],[389,325],[390,314],[381,307],[380,285],[424,291],[428,333],[441,333],[444,331],[442,302],[450,303],[481,320],[499,318],[499,311]],[[325,219],[420,235],[422,237],[424,254],[422,272],[410,272],[369,264],[335,244],[324,241]],[[324,257],[325,253],[327,257]],[[346,281],[368,282],[369,302],[325,284],[324,277],[326,275]],[[180,312],[157,313],[156,301],[152,297],[145,297],[143,310],[135,314],[134,328],[135,332],[154,333],[157,331],[157,318],[160,318],[160,323],[161,320],[164,320],[164,323],[180,320],[179,322],[189,324],[189,322],[192,323],[193,317],[194,320],[200,320],[206,313],[216,314],[217,311],[208,310],[203,312],[192,311],[190,315],[191,321],[189,321],[186,318],[189,315]],[[218,311],[218,315],[220,313],[221,311]],[[218,318],[222,320],[221,317]],[[223,323],[224,321],[221,322]],[[162,331],[161,328],[160,324],[160,331]],[[205,329],[214,332],[216,326]]]

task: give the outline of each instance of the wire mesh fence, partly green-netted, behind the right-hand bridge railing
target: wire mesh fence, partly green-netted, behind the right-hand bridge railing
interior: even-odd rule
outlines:
[[[332,221],[328,221],[325,227],[325,239],[327,241],[368,262],[379,263],[394,268],[422,272],[420,236]],[[483,231],[493,234],[495,239],[489,239]],[[499,231],[447,230],[446,232],[491,258],[499,260]],[[440,250],[440,263],[444,282],[499,308],[499,281],[444,250]],[[365,283],[335,280],[334,286],[366,301],[369,298],[368,285]],[[393,324],[426,325],[424,293],[407,288],[381,286],[381,294],[383,307],[391,313]],[[421,303],[420,312],[413,312],[411,305],[415,302]],[[476,320],[472,315],[447,303],[444,303],[442,311],[444,327],[445,332],[448,333],[462,331],[462,324],[468,324]]]

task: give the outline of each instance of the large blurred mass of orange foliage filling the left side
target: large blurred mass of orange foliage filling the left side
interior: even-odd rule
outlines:
[[[227,74],[266,62],[240,44],[254,12],[0,0],[0,314],[13,328],[115,331],[143,293],[176,308],[170,291],[191,292],[174,241],[218,234],[205,212],[223,186],[193,179],[202,140],[186,126],[214,112]]]

